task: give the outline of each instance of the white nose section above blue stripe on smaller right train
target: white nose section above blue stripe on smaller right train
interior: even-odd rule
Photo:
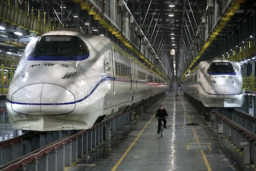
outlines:
[[[210,94],[218,95],[234,95],[239,94],[240,92],[232,86],[216,86],[210,90]]]

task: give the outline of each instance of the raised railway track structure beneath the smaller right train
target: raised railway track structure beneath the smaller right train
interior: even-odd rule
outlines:
[[[189,102],[217,133],[223,134],[239,151],[244,164],[256,164],[256,118],[229,108],[203,107],[202,103],[188,97]],[[246,149],[246,151],[244,151]]]

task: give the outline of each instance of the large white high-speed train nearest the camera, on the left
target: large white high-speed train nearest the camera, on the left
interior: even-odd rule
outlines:
[[[7,94],[14,128],[82,130],[168,90],[108,38],[51,31],[27,45]]]

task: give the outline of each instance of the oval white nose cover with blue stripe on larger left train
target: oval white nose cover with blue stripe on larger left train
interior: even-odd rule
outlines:
[[[38,83],[20,88],[12,95],[15,112],[32,115],[68,114],[75,109],[75,97],[58,85]],[[42,112],[43,111],[43,112]]]

